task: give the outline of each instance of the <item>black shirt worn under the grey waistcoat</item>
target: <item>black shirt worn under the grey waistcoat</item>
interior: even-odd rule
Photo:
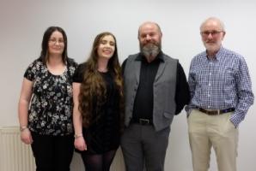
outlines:
[[[157,73],[159,64],[163,62],[162,52],[155,57],[155,60],[148,62],[146,58],[140,54],[137,60],[141,61],[140,79],[137,88],[137,94],[133,106],[132,118],[138,119],[149,119],[153,118],[153,84],[155,75]],[[125,62],[122,64],[123,72],[125,69]],[[180,63],[177,64],[177,76],[176,76],[176,91],[175,91],[175,103],[176,111],[175,115],[178,115],[184,106],[189,103],[190,93],[189,86],[186,81],[186,74]]]

